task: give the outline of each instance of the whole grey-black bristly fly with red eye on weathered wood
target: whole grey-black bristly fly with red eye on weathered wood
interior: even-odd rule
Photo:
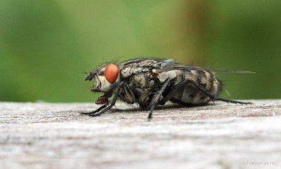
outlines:
[[[83,114],[99,116],[111,109],[117,99],[150,109],[149,119],[152,118],[152,112],[157,105],[164,105],[168,101],[186,106],[207,104],[211,100],[251,104],[218,97],[221,93],[221,81],[213,72],[254,73],[183,66],[174,60],[149,58],[126,60],[117,65],[107,62],[84,78],[85,81],[94,79],[91,89],[93,92],[104,93],[96,100],[96,104],[103,105],[95,111]],[[109,102],[108,99],[112,95],[112,101]]]

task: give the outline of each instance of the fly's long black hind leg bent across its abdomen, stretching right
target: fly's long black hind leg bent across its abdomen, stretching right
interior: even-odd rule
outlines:
[[[211,98],[211,100],[221,100],[223,102],[231,102],[231,103],[239,103],[239,104],[252,104],[251,102],[240,102],[240,101],[236,101],[236,100],[228,100],[228,99],[218,97],[218,96],[210,93],[208,90],[206,90],[206,88],[203,88],[202,86],[200,86],[200,84],[196,83],[195,81],[189,80],[189,79],[186,79],[185,81],[183,81],[183,82],[179,83],[177,86],[175,86],[171,90],[171,92],[164,97],[164,99],[162,100],[162,104],[164,104],[165,102],[170,100],[176,93],[178,93],[178,90],[181,90],[182,88],[184,88],[184,86],[188,85],[189,83],[192,83],[198,89],[202,90],[202,92],[204,92],[207,96],[209,96]]]

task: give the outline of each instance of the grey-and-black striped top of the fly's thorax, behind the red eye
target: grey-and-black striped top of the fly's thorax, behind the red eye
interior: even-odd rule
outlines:
[[[118,67],[120,75],[127,78],[132,74],[139,74],[141,72],[150,72],[152,69],[163,69],[175,65],[174,60],[161,60],[150,58],[138,58],[133,60],[126,60],[121,62]]]

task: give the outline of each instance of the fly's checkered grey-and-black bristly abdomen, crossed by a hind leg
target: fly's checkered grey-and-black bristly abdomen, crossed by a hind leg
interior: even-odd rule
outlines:
[[[221,91],[221,82],[218,81],[211,72],[202,70],[182,71],[181,75],[178,75],[178,78],[175,79],[175,86],[177,83],[181,83],[186,79],[199,84],[214,95],[219,95]],[[174,95],[171,101],[183,104],[204,104],[209,102],[209,100],[210,97],[208,97],[206,93],[197,88],[194,84],[188,83],[178,90],[178,93]]]

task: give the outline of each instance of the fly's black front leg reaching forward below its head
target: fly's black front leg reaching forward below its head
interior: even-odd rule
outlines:
[[[107,110],[111,109],[115,105],[115,102],[116,102],[117,97],[120,92],[120,88],[122,88],[122,86],[123,86],[123,83],[120,83],[116,90],[115,96],[113,97],[112,101],[109,104],[104,104],[103,106],[96,109],[95,111],[92,111],[89,113],[84,113],[84,114],[89,115],[89,116],[100,116],[100,114],[104,114]]]

